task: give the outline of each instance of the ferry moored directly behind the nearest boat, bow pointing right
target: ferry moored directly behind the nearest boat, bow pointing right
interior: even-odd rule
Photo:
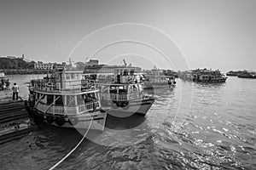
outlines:
[[[104,78],[105,77],[105,78]],[[154,103],[152,95],[143,92],[143,79],[134,68],[119,68],[113,75],[97,75],[102,108],[112,116],[145,116]]]

